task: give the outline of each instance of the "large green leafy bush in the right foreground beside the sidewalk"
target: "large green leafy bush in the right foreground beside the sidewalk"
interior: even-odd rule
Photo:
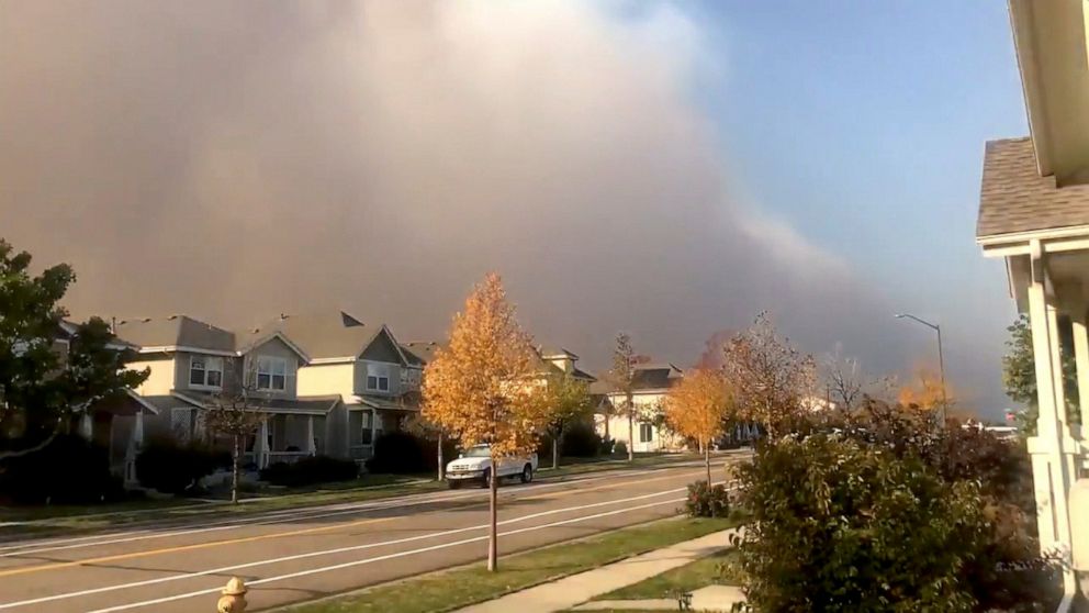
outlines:
[[[759,445],[740,480],[756,611],[968,612],[966,566],[998,562],[979,488],[917,456],[818,433]]]

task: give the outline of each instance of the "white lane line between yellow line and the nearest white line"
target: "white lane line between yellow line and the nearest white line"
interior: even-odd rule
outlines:
[[[653,493],[649,493],[649,494],[641,494],[641,495],[636,495],[636,497],[630,497],[630,498],[622,498],[622,499],[617,499],[617,500],[607,500],[607,501],[604,501],[604,502],[595,502],[595,503],[591,503],[591,504],[580,504],[580,505],[576,505],[576,506],[568,506],[568,508],[563,508],[563,509],[552,509],[552,510],[549,510],[549,511],[540,511],[540,512],[537,512],[537,513],[531,513],[529,515],[523,515],[520,517],[513,517],[513,519],[509,519],[509,520],[504,520],[502,522],[498,522],[497,525],[516,524],[516,523],[525,522],[525,521],[528,521],[528,520],[535,520],[535,519],[543,517],[543,516],[548,516],[548,515],[555,515],[555,514],[559,514],[559,513],[569,513],[569,512],[572,512],[572,511],[582,511],[582,510],[585,510],[585,509],[596,509],[596,508],[599,508],[599,506],[608,506],[608,505],[611,505],[611,504],[620,504],[620,503],[625,503],[625,502],[635,502],[635,501],[639,501],[639,500],[647,500],[649,498],[658,498],[660,495],[673,494],[673,493],[677,493],[677,492],[681,492],[681,491],[684,491],[684,490],[685,490],[685,488],[677,488],[677,489],[673,489],[673,490],[664,490],[664,491],[660,491],[660,492],[653,492]],[[384,542],[379,542],[379,543],[368,543],[368,544],[364,544],[364,545],[353,545],[353,546],[349,546],[349,547],[338,547],[338,548],[335,548],[335,549],[325,549],[325,550],[321,550],[321,551],[308,551],[308,553],[305,553],[305,554],[295,554],[295,555],[291,555],[291,556],[283,556],[283,557],[279,557],[279,558],[270,558],[270,559],[266,559],[266,560],[258,560],[258,561],[252,561],[252,562],[240,564],[240,565],[225,566],[225,567],[220,567],[220,568],[212,568],[212,569],[207,569],[207,570],[201,570],[201,571],[195,571],[195,572],[187,572],[187,573],[175,575],[175,576],[170,576],[170,577],[159,577],[157,579],[146,579],[144,581],[134,581],[134,582],[131,582],[131,583],[120,583],[120,584],[115,584],[115,586],[104,586],[104,587],[101,587],[101,588],[91,588],[91,589],[81,590],[81,591],[78,591],[78,592],[54,594],[54,595],[41,597],[41,598],[35,598],[35,599],[30,599],[30,600],[22,600],[22,601],[18,601],[18,602],[8,602],[8,603],[0,604],[0,610],[3,610],[3,609],[14,609],[16,606],[25,606],[25,605],[30,605],[30,604],[40,604],[40,603],[43,603],[43,602],[52,602],[52,601],[55,601],[55,600],[65,600],[65,599],[69,599],[69,598],[78,598],[78,597],[90,595],[90,594],[98,594],[98,593],[103,593],[103,592],[111,592],[111,591],[116,591],[116,590],[139,588],[139,587],[144,587],[144,586],[153,586],[153,584],[157,584],[157,583],[166,583],[168,581],[178,581],[178,580],[182,580],[182,579],[191,579],[191,578],[194,578],[194,577],[202,577],[202,576],[206,576],[206,575],[214,575],[214,573],[217,573],[217,572],[226,572],[226,571],[229,571],[229,570],[240,570],[240,569],[244,569],[244,568],[252,568],[252,567],[256,567],[256,566],[266,566],[266,565],[279,564],[279,562],[284,562],[284,561],[297,560],[297,559],[312,558],[312,557],[317,557],[317,556],[328,556],[328,555],[334,555],[334,554],[343,554],[343,553],[346,553],[346,551],[356,551],[356,550],[361,550],[361,549],[373,549],[373,548],[377,548],[377,547],[385,547],[385,546],[390,546],[390,545],[401,545],[401,544],[404,544],[404,543],[412,543],[412,542],[415,542],[415,540],[423,540],[423,539],[427,539],[427,538],[439,538],[439,537],[449,536],[449,535],[452,535],[452,534],[460,534],[460,533],[463,533],[463,532],[471,532],[471,531],[474,531],[474,530],[483,530],[483,528],[486,528],[486,527],[487,527],[487,524],[481,524],[481,525],[475,525],[475,526],[467,526],[467,527],[461,527],[461,528],[448,530],[448,531],[444,531],[444,532],[437,532],[437,533],[434,533],[434,534],[409,536],[409,537],[405,537],[405,538],[397,538],[397,539],[393,539],[393,540],[384,540]]]

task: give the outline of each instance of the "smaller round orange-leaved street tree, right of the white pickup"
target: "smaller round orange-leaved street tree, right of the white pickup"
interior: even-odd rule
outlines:
[[[711,442],[722,434],[722,423],[734,409],[733,394],[720,370],[697,368],[670,390],[665,423],[671,430],[699,442],[704,448],[707,486],[711,483]]]

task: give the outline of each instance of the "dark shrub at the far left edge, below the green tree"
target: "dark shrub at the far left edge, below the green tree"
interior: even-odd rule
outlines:
[[[43,449],[0,462],[0,500],[13,504],[86,504],[123,497],[106,449],[81,436],[60,435]]]

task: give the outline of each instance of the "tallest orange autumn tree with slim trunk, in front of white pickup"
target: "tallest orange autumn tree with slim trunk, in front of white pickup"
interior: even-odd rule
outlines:
[[[450,342],[424,372],[424,417],[461,441],[489,445],[487,569],[497,568],[496,484],[502,458],[531,454],[549,423],[532,338],[515,319],[503,281],[487,275],[453,317]]]

